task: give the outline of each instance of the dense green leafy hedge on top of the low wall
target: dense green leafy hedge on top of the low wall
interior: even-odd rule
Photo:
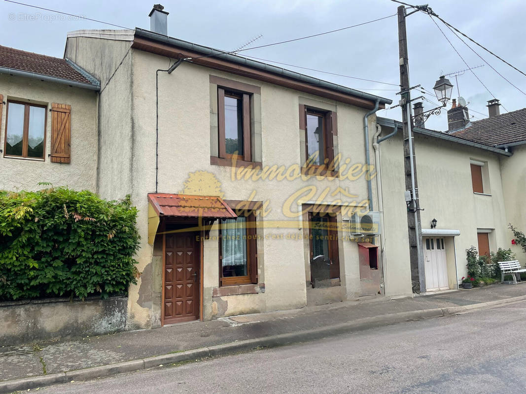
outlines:
[[[128,196],[0,191],[0,299],[126,293],[138,274],[136,217]]]

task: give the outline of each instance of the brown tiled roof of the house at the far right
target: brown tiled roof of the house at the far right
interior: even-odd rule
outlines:
[[[526,108],[477,120],[451,135],[489,146],[526,141]]]

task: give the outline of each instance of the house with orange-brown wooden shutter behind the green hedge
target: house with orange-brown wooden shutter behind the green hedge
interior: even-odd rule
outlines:
[[[67,59],[0,46],[0,189],[96,190],[98,89]]]

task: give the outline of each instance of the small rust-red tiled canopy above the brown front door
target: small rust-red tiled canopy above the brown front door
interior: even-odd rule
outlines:
[[[217,196],[148,193],[148,201],[159,216],[237,217]]]

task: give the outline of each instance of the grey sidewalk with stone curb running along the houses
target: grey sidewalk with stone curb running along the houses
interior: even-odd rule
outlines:
[[[526,299],[526,284],[343,302],[153,330],[6,346],[0,348],[0,393],[439,317],[488,306],[488,302],[513,302],[517,297]],[[184,352],[190,349],[198,350]],[[167,356],[155,357],[163,355]],[[99,368],[85,370],[92,367]]]

